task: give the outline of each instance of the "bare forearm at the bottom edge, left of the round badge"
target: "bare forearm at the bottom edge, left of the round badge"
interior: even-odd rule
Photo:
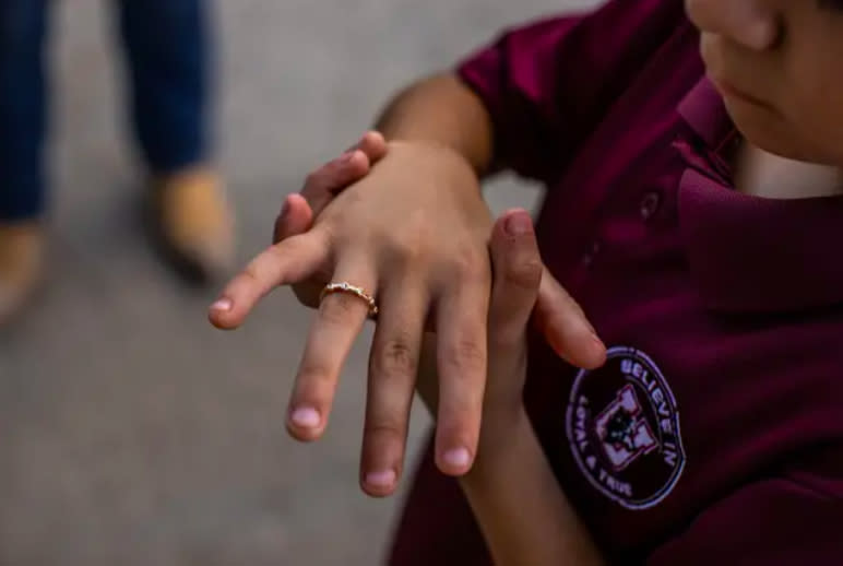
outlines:
[[[523,411],[506,427],[484,423],[477,460],[461,484],[495,564],[603,564]]]

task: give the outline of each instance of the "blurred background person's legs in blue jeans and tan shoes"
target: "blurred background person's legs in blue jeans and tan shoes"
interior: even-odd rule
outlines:
[[[0,325],[45,272],[51,0],[0,0]],[[191,279],[223,272],[231,213],[210,162],[210,25],[203,0],[116,0],[131,122],[149,172],[150,221]]]

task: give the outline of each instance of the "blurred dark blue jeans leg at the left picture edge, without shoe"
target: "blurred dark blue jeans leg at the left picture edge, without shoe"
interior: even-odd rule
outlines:
[[[44,209],[49,0],[0,0],[0,222]]]

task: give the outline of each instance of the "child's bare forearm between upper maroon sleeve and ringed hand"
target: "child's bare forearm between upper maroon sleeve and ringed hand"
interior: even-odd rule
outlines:
[[[471,163],[478,175],[489,167],[491,120],[471,89],[453,73],[419,81],[399,93],[376,128],[388,140],[446,145]]]

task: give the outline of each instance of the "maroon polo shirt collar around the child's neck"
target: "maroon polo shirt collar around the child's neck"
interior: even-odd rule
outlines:
[[[714,157],[735,139],[705,79],[677,110]],[[830,255],[843,239],[843,198],[762,199],[689,166],[678,212],[689,266],[710,308],[771,313],[843,303],[843,259]]]

